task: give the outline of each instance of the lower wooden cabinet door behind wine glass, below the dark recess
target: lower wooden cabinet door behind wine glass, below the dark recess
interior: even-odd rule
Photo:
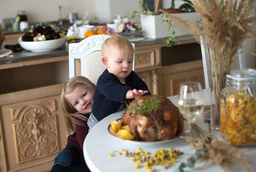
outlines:
[[[182,82],[200,82],[205,87],[202,60],[163,66],[160,75],[159,89],[164,97],[179,94]]]

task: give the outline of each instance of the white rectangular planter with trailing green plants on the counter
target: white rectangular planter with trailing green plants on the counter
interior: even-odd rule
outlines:
[[[175,15],[196,24],[196,22],[199,20],[197,13],[188,13],[195,11],[191,1],[182,1],[184,1],[184,3],[179,7],[182,13],[176,13]],[[159,1],[155,1],[155,3],[159,3]],[[168,17],[168,12],[165,10],[155,9],[154,12],[149,11],[147,4],[143,4],[142,1],[140,1],[140,6],[143,8],[143,15],[141,15],[141,30],[144,37],[154,39],[168,37],[166,39],[166,43],[168,47],[172,47],[172,45],[178,43],[177,39],[175,39],[175,36],[183,36],[189,34],[189,32],[184,27],[182,27],[182,25],[178,24],[177,22],[173,22],[171,18]],[[172,0],[171,8],[175,8],[174,0]]]

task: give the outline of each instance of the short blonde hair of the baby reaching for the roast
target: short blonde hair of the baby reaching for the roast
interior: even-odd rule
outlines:
[[[108,53],[111,52],[111,49],[118,48],[121,51],[128,51],[134,53],[134,48],[132,47],[131,42],[124,38],[124,36],[111,36],[106,39],[102,44],[102,57],[107,57]]]

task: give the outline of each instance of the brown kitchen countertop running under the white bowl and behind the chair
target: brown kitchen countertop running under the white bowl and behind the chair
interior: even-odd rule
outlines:
[[[195,43],[195,39],[191,35],[177,36],[177,39],[179,40],[179,44]],[[136,48],[144,45],[157,45],[157,44],[159,44],[160,47],[164,47],[166,44],[165,40],[166,38],[157,38],[157,39],[143,38],[143,40],[141,41],[131,41],[131,42],[135,43]],[[7,45],[8,44],[13,45],[15,43],[17,42],[6,42]],[[13,52],[13,54],[9,55],[8,57],[0,58],[0,65],[10,64],[14,62],[47,59],[51,57],[60,57],[65,55],[68,55],[67,45],[50,52],[29,52],[27,50],[22,50],[22,52]]]

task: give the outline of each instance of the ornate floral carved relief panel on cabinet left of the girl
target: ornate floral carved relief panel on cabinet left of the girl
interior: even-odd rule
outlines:
[[[11,108],[17,163],[58,152],[54,99]]]

